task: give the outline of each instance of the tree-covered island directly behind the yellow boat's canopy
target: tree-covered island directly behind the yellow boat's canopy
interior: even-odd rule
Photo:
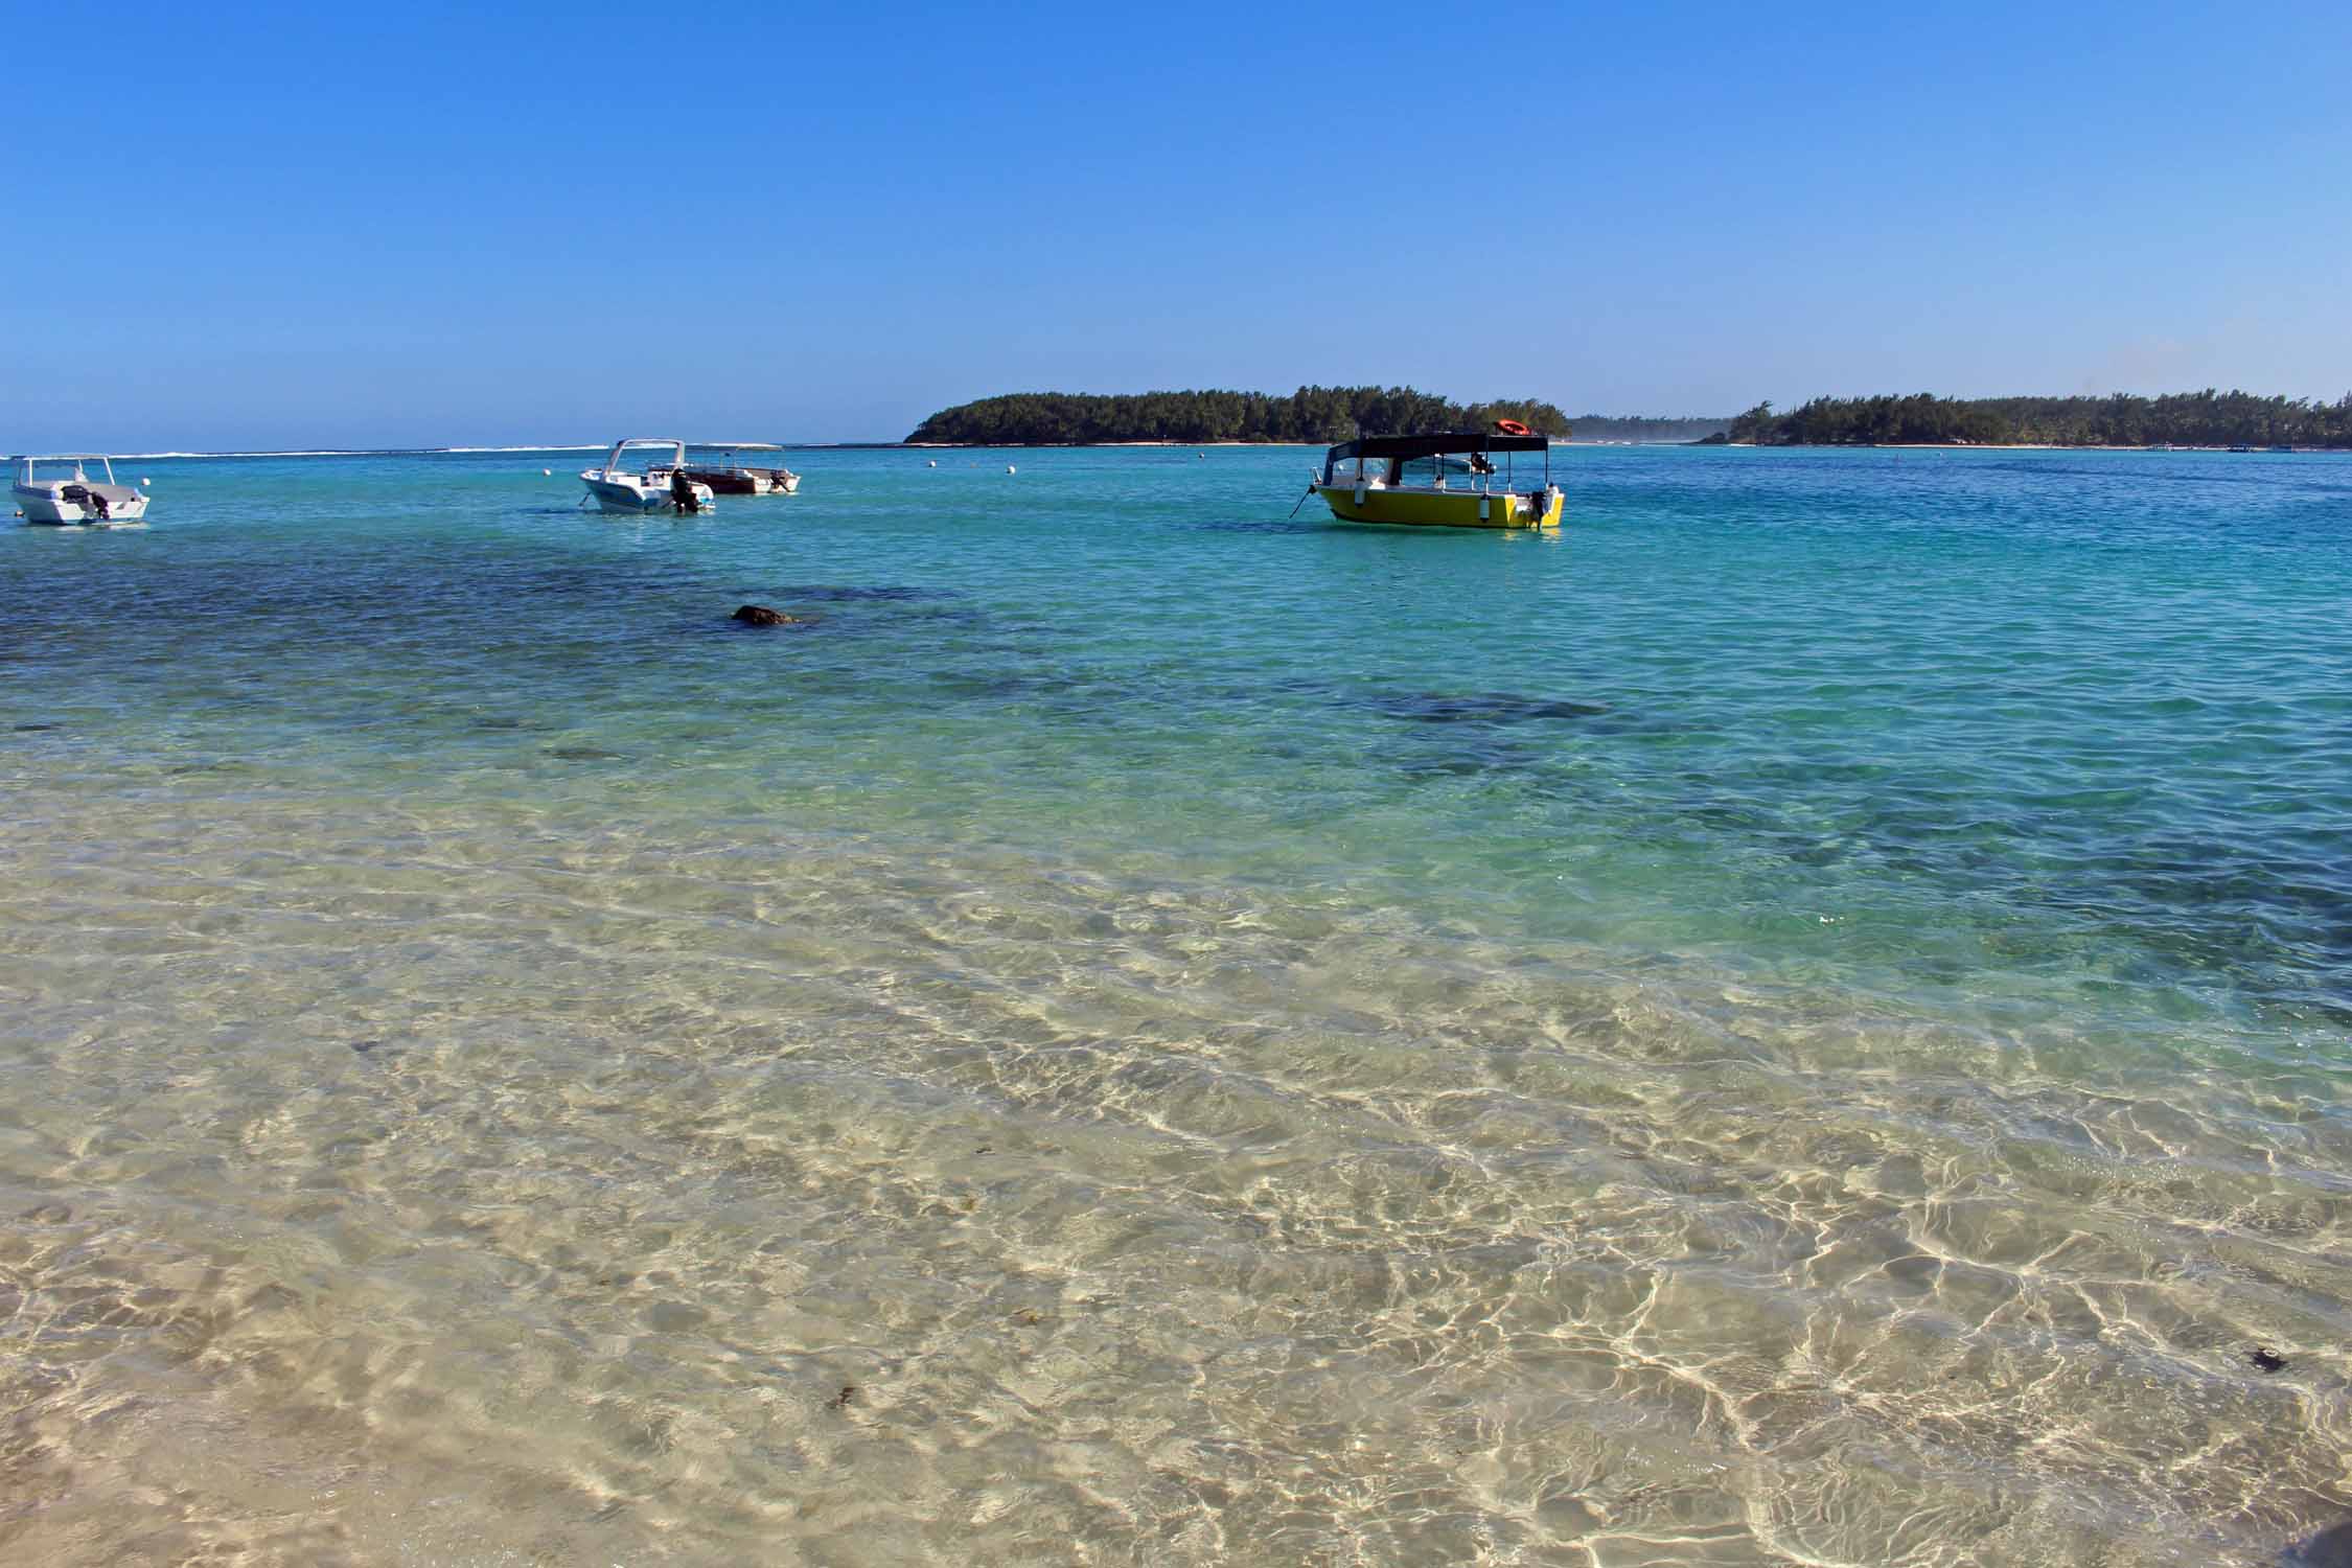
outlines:
[[[941,409],[908,442],[941,447],[1084,447],[1089,442],[1308,442],[1423,430],[1486,430],[1517,418],[1569,435],[1569,416],[1534,397],[1454,402],[1409,386],[1303,386],[1296,393],[1007,393]]]

